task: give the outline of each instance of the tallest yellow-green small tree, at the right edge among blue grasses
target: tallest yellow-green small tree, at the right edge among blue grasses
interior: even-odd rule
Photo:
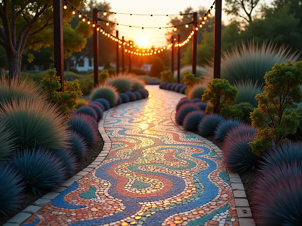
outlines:
[[[266,72],[263,93],[256,95],[258,108],[251,112],[252,126],[258,133],[249,143],[252,151],[260,155],[279,142],[289,133],[293,134],[299,125],[299,115],[293,110],[284,111],[293,103],[302,102],[302,61],[275,64]]]

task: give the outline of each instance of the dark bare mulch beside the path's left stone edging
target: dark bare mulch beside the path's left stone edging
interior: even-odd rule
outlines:
[[[98,137],[98,141],[93,146],[88,146],[88,150],[85,156],[79,159],[79,161],[77,162],[74,174],[77,174],[78,172],[82,171],[82,169],[90,165],[101,153],[101,150],[104,146],[104,141],[101,137],[101,134],[98,134]],[[11,212],[8,216],[0,215],[0,225],[5,224],[6,221],[11,219],[14,215],[24,210],[27,206],[32,205],[37,199],[40,199],[44,194],[34,195],[31,191],[26,190],[22,193],[22,195],[24,196],[24,198],[22,198],[23,202],[21,203],[20,208],[14,212]]]

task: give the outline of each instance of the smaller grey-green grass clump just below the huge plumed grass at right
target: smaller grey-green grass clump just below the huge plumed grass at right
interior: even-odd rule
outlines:
[[[258,100],[255,99],[255,96],[263,92],[262,84],[257,82],[252,82],[252,80],[241,80],[235,83],[236,88],[238,89],[237,99],[235,104],[241,102],[249,102],[253,105],[254,108],[258,106]]]

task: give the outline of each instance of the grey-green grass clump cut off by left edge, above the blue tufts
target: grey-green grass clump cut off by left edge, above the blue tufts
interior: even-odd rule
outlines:
[[[16,148],[11,134],[12,131],[6,128],[5,122],[0,122],[0,159],[6,158]]]

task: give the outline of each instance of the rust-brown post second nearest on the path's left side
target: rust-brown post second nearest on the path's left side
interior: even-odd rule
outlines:
[[[98,85],[98,9],[93,9],[93,80],[94,86]]]

